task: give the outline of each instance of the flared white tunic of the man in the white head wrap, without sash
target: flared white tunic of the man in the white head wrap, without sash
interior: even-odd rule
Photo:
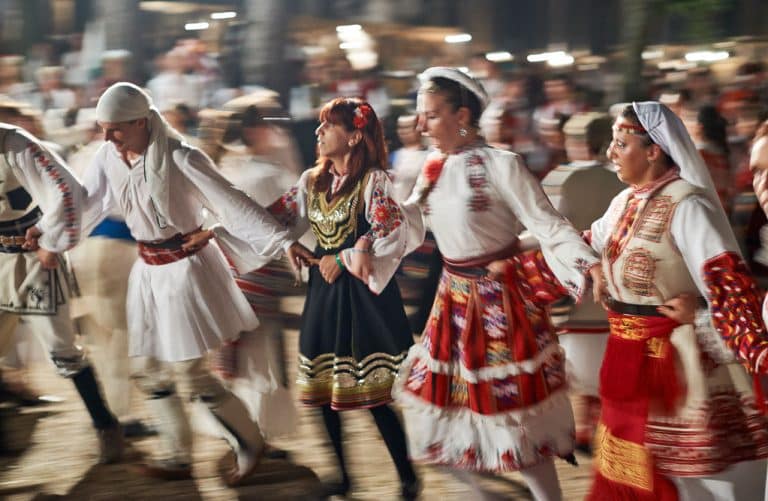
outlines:
[[[201,226],[203,208],[252,249],[277,255],[287,232],[243,192],[215,172],[211,160],[186,144],[172,142],[169,166],[172,225],[161,228],[144,177],[144,158],[126,165],[114,145],[97,152],[86,171],[85,232],[112,211],[125,219],[139,241],[163,240]],[[193,256],[165,265],[138,260],[128,283],[131,356],[180,361],[201,357],[222,340],[258,326],[250,305],[211,244]]]

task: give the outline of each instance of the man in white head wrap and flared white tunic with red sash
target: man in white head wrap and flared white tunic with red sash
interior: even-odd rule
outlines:
[[[176,391],[183,378],[236,454],[225,480],[240,483],[255,470],[263,438],[203,357],[258,321],[219,249],[207,245],[212,232],[200,230],[203,208],[222,224],[220,239],[236,235],[264,255],[279,254],[287,232],[217,174],[210,158],[182,143],[135,85],[112,85],[96,114],[107,143],[85,174],[83,227],[89,232],[117,211],[138,242],[141,259],[131,270],[127,298],[132,378],[147,395],[165,448],[164,457],[141,471],[167,480],[191,476],[190,426]]]

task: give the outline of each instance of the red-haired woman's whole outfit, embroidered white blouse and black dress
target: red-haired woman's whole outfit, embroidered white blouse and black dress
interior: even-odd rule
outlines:
[[[346,265],[359,238],[372,241],[368,285],[349,273],[327,283],[310,269],[299,337],[299,400],[335,410],[369,408],[392,400],[391,386],[413,344],[400,291],[391,280],[405,253],[405,224],[386,172],[372,170],[352,192],[328,202],[305,172],[269,207],[294,237],[311,228],[315,255],[339,254]],[[334,176],[338,189],[345,176]]]

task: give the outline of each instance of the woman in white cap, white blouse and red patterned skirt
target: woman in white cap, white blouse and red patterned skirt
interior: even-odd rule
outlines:
[[[536,499],[560,499],[553,457],[573,457],[574,423],[546,306],[566,291],[541,275],[541,252],[518,253],[518,235],[534,234],[576,296],[588,270],[600,278],[599,262],[519,156],[478,136],[482,86],[455,68],[430,68],[421,79],[423,128],[437,151],[405,207],[414,243],[423,213],[445,269],[395,387],[411,457],[457,474],[520,471]],[[463,478],[476,496],[488,494],[473,475]]]

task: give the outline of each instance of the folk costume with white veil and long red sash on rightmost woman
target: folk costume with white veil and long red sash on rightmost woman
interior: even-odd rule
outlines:
[[[732,355],[751,372],[766,371],[761,296],[682,122],[655,102],[633,107],[639,132],[677,167],[623,191],[592,225],[611,328],[600,372],[594,500],[678,499],[685,477],[768,455],[768,422]],[[658,313],[658,305],[694,291],[708,305],[695,328]],[[739,499],[738,489],[717,499]]]

